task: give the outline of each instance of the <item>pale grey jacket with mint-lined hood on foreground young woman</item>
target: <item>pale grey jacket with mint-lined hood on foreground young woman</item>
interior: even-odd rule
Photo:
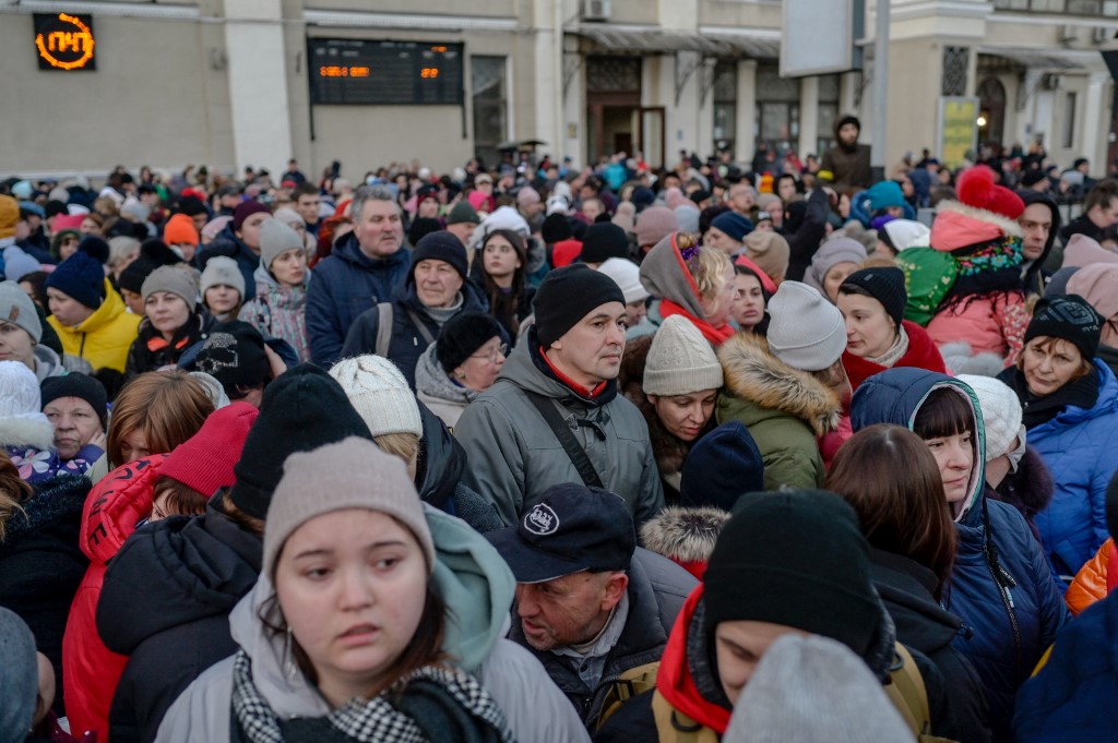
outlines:
[[[464,522],[425,508],[435,542],[435,590],[447,607],[443,649],[473,673],[505,713],[517,740],[588,741],[578,715],[531,654],[503,638],[514,582],[509,566]],[[320,717],[330,712],[302,674],[288,671],[284,641],[265,630],[258,613],[275,594],[267,575],[229,616],[233,640],[253,661],[253,682],[281,716]],[[171,705],[155,737],[160,743],[230,740],[233,658],[211,666]]]

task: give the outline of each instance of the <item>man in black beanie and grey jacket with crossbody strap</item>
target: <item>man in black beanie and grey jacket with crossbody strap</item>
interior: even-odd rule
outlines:
[[[637,525],[664,506],[639,411],[617,394],[625,351],[625,296],[582,264],[558,268],[536,293],[536,324],[496,382],[458,419],[466,483],[505,524],[552,485],[604,487]]]

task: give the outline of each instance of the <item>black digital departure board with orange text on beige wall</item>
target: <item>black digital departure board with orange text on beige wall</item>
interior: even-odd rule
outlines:
[[[463,45],[307,39],[311,103],[463,104]]]

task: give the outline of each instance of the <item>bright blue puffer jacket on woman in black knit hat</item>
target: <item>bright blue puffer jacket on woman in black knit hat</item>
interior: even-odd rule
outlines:
[[[1036,514],[1044,550],[1061,575],[1074,575],[1110,536],[1107,484],[1118,469],[1118,380],[1095,360],[1099,399],[1090,409],[1068,406],[1055,418],[1030,429],[1029,444],[1052,470],[1055,494]]]

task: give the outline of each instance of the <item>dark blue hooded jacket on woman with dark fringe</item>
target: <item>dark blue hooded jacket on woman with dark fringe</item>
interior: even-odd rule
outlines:
[[[974,391],[957,379],[922,369],[890,369],[871,377],[854,393],[855,431],[874,423],[912,428],[917,410],[941,387],[970,402],[985,461],[986,434]],[[970,496],[956,516],[958,546],[944,607],[963,619],[955,647],[966,655],[986,686],[995,741],[1010,740],[1014,695],[1068,619],[1068,609],[1048,562],[1024,517],[985,497],[985,467],[972,474]]]

